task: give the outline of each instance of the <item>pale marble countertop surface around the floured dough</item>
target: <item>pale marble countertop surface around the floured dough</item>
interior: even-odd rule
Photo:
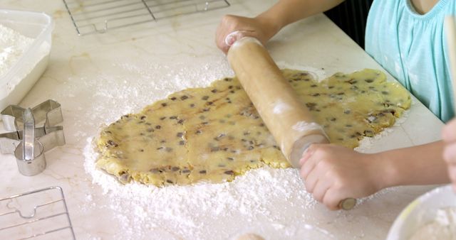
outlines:
[[[274,1],[229,2],[232,6],[225,9],[146,23],[103,35],[78,37],[61,0],[0,0],[0,8],[43,11],[56,21],[48,69],[21,106],[33,107],[46,99],[60,102],[66,134],[65,146],[46,153],[48,166],[40,175],[20,175],[14,156],[0,156],[0,198],[52,185],[61,186],[77,239],[125,237],[120,231],[128,227],[133,232],[126,235],[127,239],[135,236],[230,239],[244,232],[254,232],[266,239],[384,239],[400,210],[430,190],[430,186],[387,190],[349,212],[331,212],[320,204],[303,208],[303,200],[294,198],[294,192],[286,199],[271,195],[275,198],[261,206],[267,212],[264,216],[245,217],[242,211],[234,210],[225,214],[224,219],[208,215],[208,220],[199,222],[199,229],[195,231],[180,231],[175,224],[167,225],[165,231],[162,229],[166,219],[151,218],[155,227],[128,226],[131,221],[120,221],[118,214],[131,214],[133,209],[128,204],[115,209],[110,207],[110,195],[103,195],[101,187],[94,184],[92,176],[84,170],[86,139],[95,136],[102,124],[138,111],[171,92],[204,86],[211,80],[232,75],[224,55],[214,45],[214,32],[220,18],[227,13],[254,16]],[[382,69],[323,15],[285,28],[266,47],[276,62],[314,67],[326,75],[363,68]],[[195,84],[195,79],[201,81]],[[372,141],[371,148],[366,151],[414,146],[440,139],[442,123],[416,99],[414,102],[405,122]],[[289,178],[297,178],[297,175]],[[296,190],[296,195],[299,194],[302,192]],[[142,216],[147,219],[147,209],[145,212]],[[321,231],[311,231],[306,226],[317,226]],[[182,232],[194,232],[195,235]]]

